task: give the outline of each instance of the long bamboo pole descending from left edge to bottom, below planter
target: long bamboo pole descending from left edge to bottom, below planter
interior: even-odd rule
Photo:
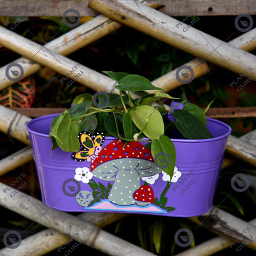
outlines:
[[[10,197],[10,193],[12,193],[13,190],[14,189],[10,186],[0,183],[0,191],[6,191],[6,193],[0,193],[0,205],[26,218],[30,218],[34,222],[47,226],[47,228],[54,229],[70,237],[77,232],[79,236],[74,237],[76,241],[108,255],[154,255],[113,234],[101,230],[90,222],[84,222],[80,218],[74,217],[66,212],[52,209],[38,199],[32,198],[21,191],[18,191],[15,196]],[[60,200],[62,200],[62,198],[60,198]]]

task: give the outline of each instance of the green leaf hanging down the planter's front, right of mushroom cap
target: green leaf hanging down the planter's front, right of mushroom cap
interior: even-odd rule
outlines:
[[[166,163],[169,163],[169,165],[162,170],[169,174],[170,180],[172,180],[176,161],[176,151],[174,143],[172,143],[170,138],[166,135],[161,135],[159,140],[153,140],[151,145],[151,152],[153,158],[156,156],[156,154],[160,153],[158,159],[155,159],[155,161],[158,161],[159,166],[164,166],[166,165]],[[161,155],[161,153],[167,153],[170,158],[168,159],[167,156]]]

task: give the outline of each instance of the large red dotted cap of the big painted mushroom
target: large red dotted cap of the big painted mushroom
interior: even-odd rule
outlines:
[[[126,146],[124,145],[125,142],[122,142],[122,140],[119,139],[108,144],[102,151],[100,151],[94,162],[92,162],[90,169],[93,171],[97,166],[104,162],[121,158],[140,158],[154,162],[151,151],[140,142],[129,142]]]

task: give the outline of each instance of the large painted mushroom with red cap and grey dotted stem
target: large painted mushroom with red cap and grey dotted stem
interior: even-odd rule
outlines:
[[[96,178],[114,181],[108,196],[111,202],[120,206],[142,205],[134,198],[135,191],[140,188],[140,178],[159,174],[162,170],[154,164],[151,151],[141,143],[124,145],[119,139],[108,144],[90,168]]]

